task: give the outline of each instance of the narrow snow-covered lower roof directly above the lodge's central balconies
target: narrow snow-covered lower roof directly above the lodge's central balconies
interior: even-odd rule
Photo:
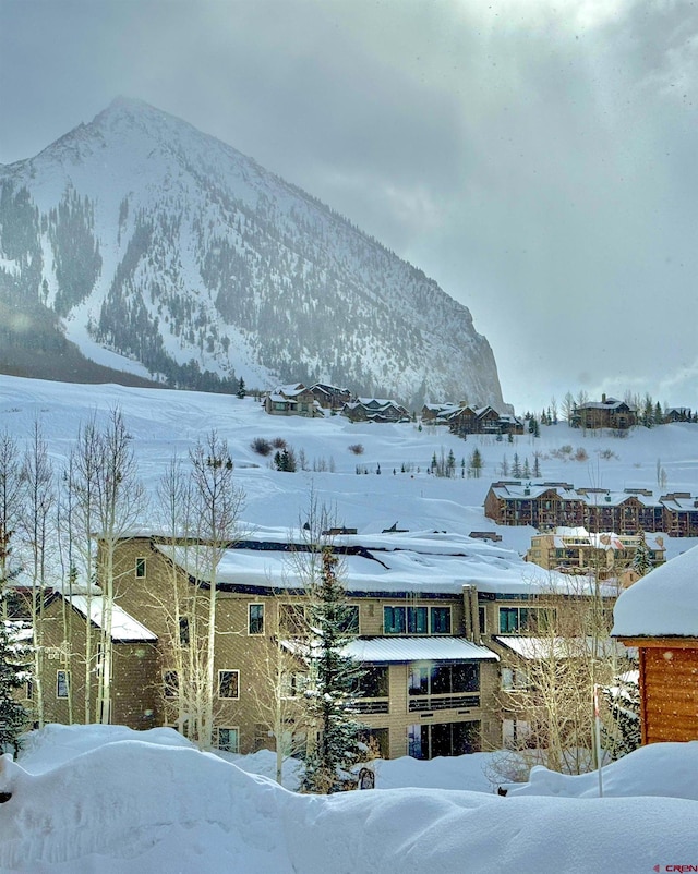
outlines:
[[[465,638],[357,638],[344,652],[357,661],[498,661],[486,646]]]

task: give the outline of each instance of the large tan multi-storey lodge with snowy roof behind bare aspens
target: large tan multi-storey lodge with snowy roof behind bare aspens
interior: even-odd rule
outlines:
[[[214,742],[232,752],[269,745],[258,700],[272,693],[260,666],[298,638],[299,617],[308,609],[303,578],[289,566],[304,547],[274,535],[231,546],[216,576]],[[510,715],[503,713],[498,697],[501,657],[507,640],[531,633],[535,586],[530,572],[521,570],[498,583],[473,579],[465,542],[470,548],[474,543],[478,549],[497,547],[462,539],[434,535],[416,541],[401,534],[375,535],[370,543],[351,535],[336,538],[352,612],[348,653],[366,669],[358,709],[384,757],[431,758],[502,745]],[[205,608],[210,580],[196,570],[204,549],[155,535],[118,545],[111,721],[137,729],[184,728],[177,708],[177,665],[194,644],[194,615],[176,615],[172,604],[177,591],[181,604],[192,604],[196,594],[198,607],[192,609]],[[541,574],[541,584],[550,597],[547,573]],[[85,677],[99,670],[101,596],[63,600],[53,595],[45,616],[46,718],[85,721]],[[72,629],[68,634],[65,616]],[[97,653],[92,671],[85,670],[87,628]],[[298,676],[305,670],[299,659]],[[91,713],[89,719],[98,716]]]

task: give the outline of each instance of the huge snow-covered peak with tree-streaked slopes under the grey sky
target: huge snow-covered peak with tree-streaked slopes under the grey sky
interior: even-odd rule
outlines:
[[[0,299],[52,309],[87,357],[180,386],[323,380],[503,409],[467,307],[318,201],[146,104],[115,100],[0,167]]]

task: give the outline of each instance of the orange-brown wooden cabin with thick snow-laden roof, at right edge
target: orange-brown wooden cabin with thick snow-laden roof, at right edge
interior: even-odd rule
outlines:
[[[612,634],[636,646],[642,743],[698,740],[698,547],[623,592]]]

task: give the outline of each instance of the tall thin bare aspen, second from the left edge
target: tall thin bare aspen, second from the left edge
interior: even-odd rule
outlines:
[[[33,629],[33,675],[36,690],[36,720],[44,727],[44,603],[46,599],[46,568],[52,541],[49,537],[50,517],[56,503],[53,469],[48,447],[38,421],[34,422],[32,438],[22,464],[25,501],[21,518],[22,538],[26,554],[25,569],[31,581]],[[49,545],[51,544],[51,545]]]

